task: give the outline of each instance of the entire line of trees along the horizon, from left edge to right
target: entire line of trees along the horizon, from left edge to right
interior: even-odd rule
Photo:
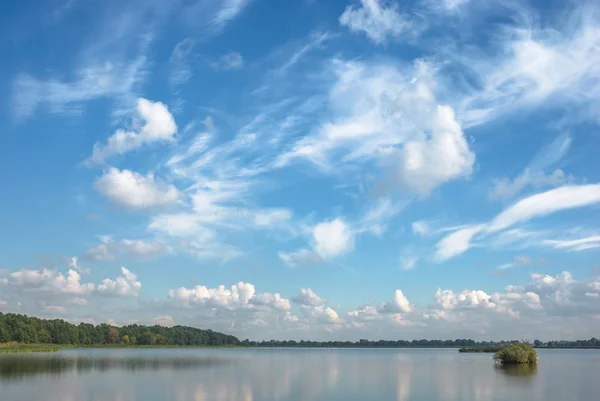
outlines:
[[[359,340],[353,341],[240,341],[237,337],[212,330],[188,326],[144,326],[132,324],[115,327],[106,323],[78,325],[62,319],[39,319],[26,315],[0,312],[0,343],[58,345],[192,345],[246,347],[312,347],[312,348],[442,348],[442,347],[504,347],[521,341],[456,340]],[[537,348],[600,348],[600,340],[533,341]]]

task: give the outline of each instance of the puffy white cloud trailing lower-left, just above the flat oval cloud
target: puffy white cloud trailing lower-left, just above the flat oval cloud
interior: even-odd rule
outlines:
[[[117,130],[105,145],[96,143],[88,164],[103,163],[113,155],[123,155],[153,142],[174,141],[177,125],[168,107],[161,102],[140,98],[134,116],[134,130]]]

